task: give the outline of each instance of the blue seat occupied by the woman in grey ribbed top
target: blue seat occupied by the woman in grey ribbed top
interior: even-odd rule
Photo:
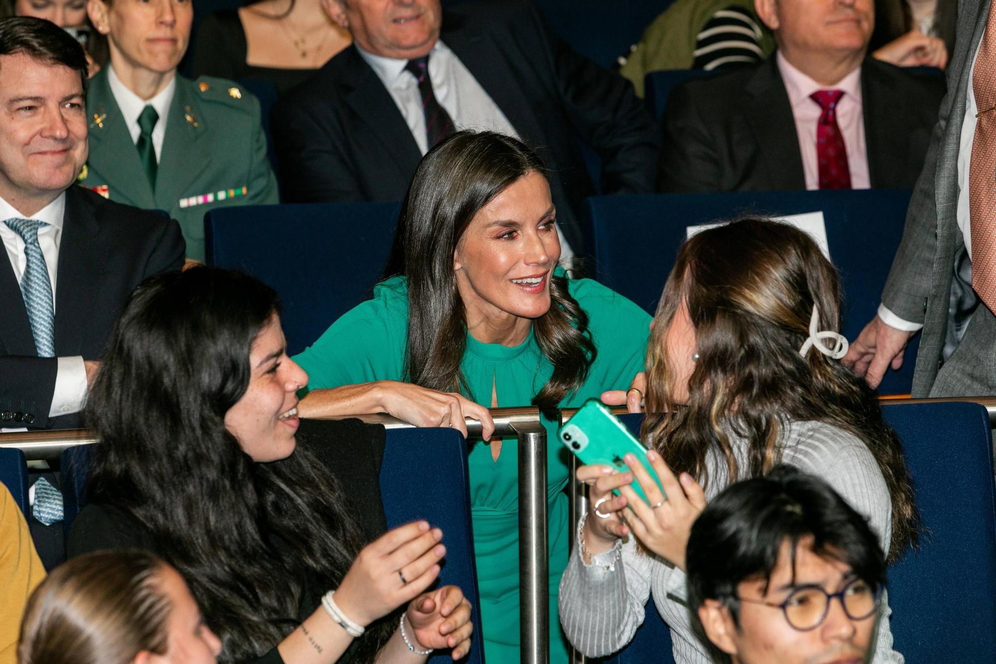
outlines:
[[[907,662],[991,662],[996,499],[988,413],[970,403],[897,403],[882,412],[902,441],[924,526],[919,547],[888,569],[894,647]],[[621,419],[639,434],[642,415]],[[661,628],[648,606],[636,636],[609,661],[670,661],[661,659]]]

